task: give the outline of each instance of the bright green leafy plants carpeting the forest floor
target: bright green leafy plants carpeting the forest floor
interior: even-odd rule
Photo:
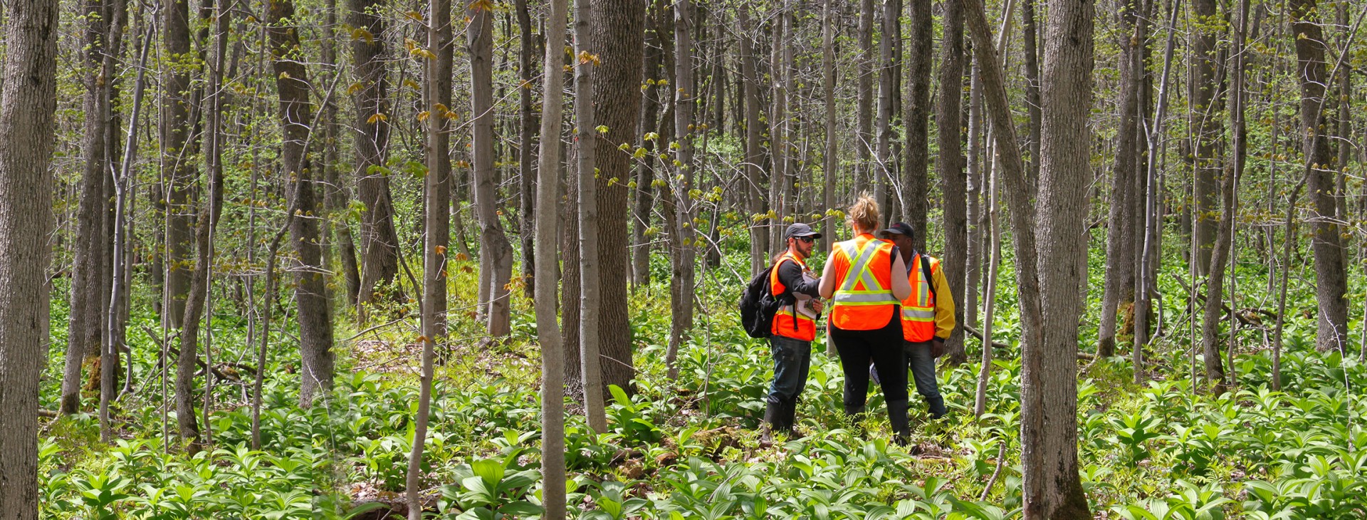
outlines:
[[[889,442],[879,397],[871,395],[872,419],[850,424],[843,417],[839,364],[817,342],[798,408],[805,437],[761,443],[755,428],[771,365],[768,346],[745,337],[731,312],[741,285],[734,272],[745,268],[742,263],[729,257],[720,270],[704,274],[701,322],[679,353],[678,380],[664,376],[666,289],[642,287],[634,298],[637,391],[612,389],[606,434],[589,432],[580,416],[566,424],[573,479],[565,486],[571,490],[574,515],[1018,516],[1020,363],[1014,346],[995,353],[987,413],[980,420],[972,416],[976,363],[942,369],[940,387],[953,413],[928,421],[915,408],[915,442],[898,447]],[[463,285],[468,276],[469,271],[457,276],[452,289],[473,286]],[[1178,294],[1176,286],[1165,291]],[[457,294],[458,301],[468,297]],[[1002,300],[1010,309],[1010,296]],[[1094,513],[1131,520],[1367,517],[1363,363],[1316,353],[1312,316],[1297,313],[1288,324],[1284,391],[1270,390],[1271,354],[1262,348],[1259,330],[1241,333],[1245,346],[1234,363],[1236,391],[1193,391],[1185,301],[1174,300],[1167,298],[1163,309],[1169,333],[1150,353],[1151,380],[1132,383],[1132,367],[1122,357],[1099,360],[1080,372],[1079,456]],[[458,339],[439,367],[422,493],[440,517],[534,517],[541,487],[560,484],[540,479],[539,357],[530,308],[525,301],[518,305],[509,342],[481,349]],[[215,323],[219,356],[246,361],[245,324],[231,317],[231,309],[223,313]],[[454,338],[477,335],[469,316],[452,316]],[[56,420],[44,430],[42,517],[383,517],[377,504],[402,502],[417,409],[417,350],[403,327],[411,324],[401,320],[346,342],[336,391],[310,409],[297,402],[298,382],[290,374],[297,361],[287,349],[272,350],[261,450],[247,447],[246,386],[220,382],[208,421],[215,447],[194,457],[167,449],[156,348],[148,346],[150,335],[141,337],[134,346],[141,385],[123,401],[116,445],[98,442],[92,415]],[[998,341],[1014,345],[1018,326],[1012,313],[997,316],[994,328],[1001,331]],[[278,345],[287,345],[288,328],[279,334]],[[977,342],[969,345],[972,350]],[[53,356],[60,356],[59,348]],[[243,374],[242,379],[249,378]],[[45,387],[44,402],[53,394],[55,389]],[[573,412],[574,402],[567,404]],[[916,397],[913,404],[919,405]]]

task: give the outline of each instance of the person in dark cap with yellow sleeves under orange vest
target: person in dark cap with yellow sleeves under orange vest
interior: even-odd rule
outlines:
[[[936,257],[916,250],[912,226],[898,222],[883,231],[906,263],[912,296],[902,300],[902,350],[916,382],[916,393],[925,398],[931,419],[943,417],[945,398],[935,383],[935,359],[945,353],[945,339],[954,331],[954,296]],[[930,264],[927,272],[925,265]],[[927,279],[930,276],[930,279]]]

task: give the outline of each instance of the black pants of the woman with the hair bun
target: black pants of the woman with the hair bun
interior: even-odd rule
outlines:
[[[868,401],[868,363],[878,368],[883,400],[906,402],[906,354],[902,353],[902,320],[898,311],[875,330],[843,330],[831,326],[831,342],[845,371],[845,412],[854,413]]]

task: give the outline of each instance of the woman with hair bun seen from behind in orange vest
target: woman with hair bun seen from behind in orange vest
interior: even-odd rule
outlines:
[[[837,242],[822,272],[820,293],[833,298],[827,328],[845,371],[845,413],[857,420],[868,400],[868,364],[882,375],[887,419],[898,443],[908,442],[906,357],[901,302],[912,294],[897,246],[874,237],[878,203],[864,194],[845,219],[854,238]]]

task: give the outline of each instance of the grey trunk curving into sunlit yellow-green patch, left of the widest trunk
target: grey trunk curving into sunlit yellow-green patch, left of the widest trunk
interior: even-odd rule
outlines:
[[[483,5],[473,3],[466,10],[470,18],[466,38],[470,45],[474,205],[480,218],[480,278],[488,294],[485,330],[491,339],[502,341],[511,326],[507,285],[513,275],[513,245],[499,218],[498,172],[493,170],[493,12]]]

